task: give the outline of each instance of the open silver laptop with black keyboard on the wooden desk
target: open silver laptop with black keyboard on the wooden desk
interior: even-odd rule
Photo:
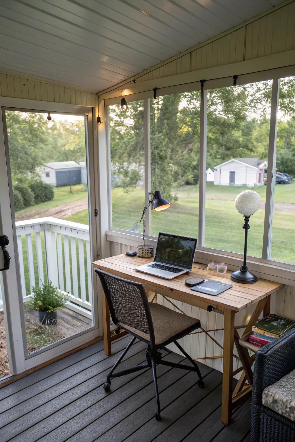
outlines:
[[[135,270],[165,279],[175,278],[192,270],[196,245],[195,238],[160,232],[153,262]]]

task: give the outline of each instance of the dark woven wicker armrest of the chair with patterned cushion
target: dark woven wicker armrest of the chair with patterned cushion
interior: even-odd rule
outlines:
[[[255,356],[252,404],[261,404],[262,392],[295,369],[295,328],[260,348]]]

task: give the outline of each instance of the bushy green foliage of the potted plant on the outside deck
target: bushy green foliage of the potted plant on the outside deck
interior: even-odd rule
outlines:
[[[68,297],[58,291],[49,281],[42,287],[32,287],[34,296],[27,302],[26,307],[37,312],[56,312],[58,307],[65,307]]]

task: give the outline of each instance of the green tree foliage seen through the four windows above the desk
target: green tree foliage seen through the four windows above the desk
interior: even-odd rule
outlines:
[[[267,160],[272,81],[207,94],[207,168],[232,158]],[[279,103],[276,168],[295,176],[295,78],[281,80]],[[152,191],[177,198],[173,187],[199,181],[200,92],[162,96],[150,108]],[[110,123],[113,185],[130,192],[144,171],[143,101],[126,112],[112,106]]]

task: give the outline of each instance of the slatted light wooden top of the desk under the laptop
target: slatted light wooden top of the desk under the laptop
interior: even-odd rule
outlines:
[[[149,263],[152,260],[152,258],[117,255],[95,261],[93,266],[121,278],[142,282],[147,290],[157,290],[158,293],[165,294],[165,296],[174,299],[180,299],[187,304],[196,305],[201,308],[207,308],[207,305],[212,305],[222,311],[227,308],[238,312],[283,286],[280,282],[272,282],[265,279],[258,279],[254,284],[239,284],[230,279],[230,271],[227,271],[224,275],[212,276],[207,273],[207,266],[199,263],[194,263],[192,271],[189,273],[173,279],[164,279],[134,270],[135,267]],[[232,288],[217,296],[195,292],[184,284],[184,280],[197,276],[221,281],[224,279],[225,282],[232,284]]]

